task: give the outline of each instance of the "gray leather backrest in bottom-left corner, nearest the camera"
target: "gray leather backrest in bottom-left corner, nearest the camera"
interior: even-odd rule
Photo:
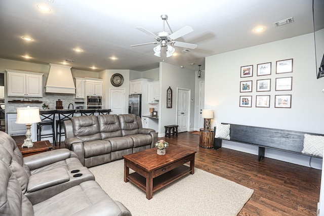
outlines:
[[[20,185],[8,166],[8,162],[0,160],[0,215],[33,215],[32,204],[22,194]]]

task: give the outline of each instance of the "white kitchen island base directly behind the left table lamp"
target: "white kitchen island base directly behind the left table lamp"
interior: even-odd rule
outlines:
[[[26,124],[16,124],[17,113],[10,113],[7,117],[8,134],[10,136],[18,136],[26,134]],[[30,128],[31,139],[33,142],[37,141],[36,123],[33,123]]]

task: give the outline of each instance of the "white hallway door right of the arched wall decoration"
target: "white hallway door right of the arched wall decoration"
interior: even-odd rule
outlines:
[[[187,132],[190,129],[190,90],[178,89],[177,92],[178,132]]]

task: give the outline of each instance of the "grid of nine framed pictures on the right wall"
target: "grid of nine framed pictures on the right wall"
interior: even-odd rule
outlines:
[[[270,78],[272,62],[254,65],[241,66],[239,83],[239,106],[252,107],[255,100],[255,107],[269,108],[291,108],[292,95],[285,94],[285,91],[293,90],[293,59],[279,60],[275,62],[275,74],[278,77]],[[282,76],[279,74],[286,74]],[[256,76],[254,75],[256,74]],[[271,82],[275,82],[274,90],[271,90]],[[253,91],[257,95],[253,98]],[[274,105],[270,104],[270,92],[274,91]]]

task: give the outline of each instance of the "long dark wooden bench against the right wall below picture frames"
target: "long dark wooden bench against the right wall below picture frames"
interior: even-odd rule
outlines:
[[[216,131],[216,127],[214,127],[214,131]],[[288,131],[285,129],[230,124],[230,141],[258,146],[258,161],[264,157],[266,148],[322,158],[320,156],[302,153],[304,134],[324,136],[322,134]],[[214,138],[214,149],[222,147],[222,140]]]

